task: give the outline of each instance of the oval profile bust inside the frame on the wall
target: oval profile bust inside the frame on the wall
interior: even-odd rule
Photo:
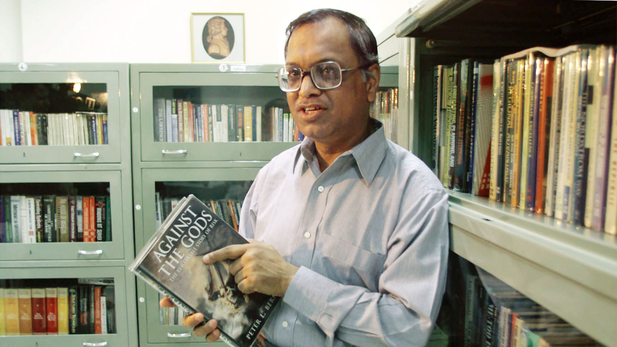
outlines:
[[[220,16],[210,18],[204,25],[202,42],[205,51],[213,59],[227,57],[234,44],[234,31],[230,22]]]

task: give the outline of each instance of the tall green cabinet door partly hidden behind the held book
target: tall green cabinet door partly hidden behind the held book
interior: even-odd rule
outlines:
[[[194,194],[213,211],[237,228],[239,209],[259,165],[207,169],[143,169],[143,235],[136,240],[141,248],[154,234],[164,217],[183,196]],[[136,236],[139,230],[136,229]],[[204,341],[191,335],[181,324],[184,312],[159,307],[160,295],[138,280],[139,325],[147,331],[147,343]],[[142,340],[143,341],[143,340]]]

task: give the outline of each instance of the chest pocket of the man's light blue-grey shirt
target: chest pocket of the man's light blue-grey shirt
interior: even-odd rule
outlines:
[[[386,256],[322,233],[313,259],[312,269],[336,282],[378,291]]]

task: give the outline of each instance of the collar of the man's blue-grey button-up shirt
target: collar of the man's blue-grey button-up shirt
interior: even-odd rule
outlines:
[[[375,175],[377,174],[379,165],[381,165],[381,162],[386,156],[387,148],[383,124],[379,122],[379,120],[372,117],[370,122],[371,125],[375,127],[375,132],[368,136],[368,138],[360,144],[357,144],[357,146],[345,153],[342,153],[340,156],[352,156],[354,158],[358,166],[358,170],[360,170],[360,175],[362,175],[362,178],[364,178],[367,185],[370,185],[371,182],[373,182],[373,178],[375,178]],[[310,140],[308,137],[305,137],[304,140],[302,140],[293,162],[292,172],[295,172],[296,169],[300,169],[300,167],[297,167],[300,157],[304,158],[301,166],[302,173],[304,173],[304,171],[309,168],[312,161],[317,160],[317,156],[315,155],[315,141]]]

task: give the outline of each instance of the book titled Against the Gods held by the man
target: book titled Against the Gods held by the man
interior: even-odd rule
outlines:
[[[183,198],[146,243],[130,270],[186,312],[216,319],[221,339],[251,346],[278,298],[238,290],[231,261],[204,264],[202,257],[247,243],[193,194]]]

